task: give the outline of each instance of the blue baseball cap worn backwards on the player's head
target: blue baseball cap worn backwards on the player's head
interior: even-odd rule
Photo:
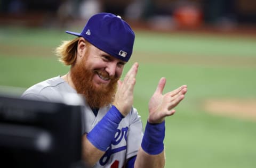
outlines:
[[[66,32],[85,38],[95,47],[122,61],[129,61],[132,55],[135,34],[121,16],[98,13],[91,16],[81,33]]]

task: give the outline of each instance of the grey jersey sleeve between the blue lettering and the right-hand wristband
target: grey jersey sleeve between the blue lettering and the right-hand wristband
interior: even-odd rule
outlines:
[[[132,108],[129,113],[129,130],[127,135],[126,159],[137,155],[143,137],[143,126],[140,115],[136,108]]]

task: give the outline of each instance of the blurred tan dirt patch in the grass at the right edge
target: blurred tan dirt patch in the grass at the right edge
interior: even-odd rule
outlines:
[[[208,99],[203,109],[214,115],[256,121],[256,99]]]

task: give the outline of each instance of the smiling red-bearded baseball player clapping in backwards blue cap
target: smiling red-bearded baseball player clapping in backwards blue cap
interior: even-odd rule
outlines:
[[[82,105],[82,159],[88,167],[164,167],[165,117],[175,112],[187,86],[163,95],[166,79],[159,80],[143,132],[132,106],[138,63],[119,80],[134,44],[129,24],[120,16],[98,13],[81,33],[66,32],[77,37],[64,41],[56,53],[70,71],[37,83],[22,96],[58,102],[68,96]]]

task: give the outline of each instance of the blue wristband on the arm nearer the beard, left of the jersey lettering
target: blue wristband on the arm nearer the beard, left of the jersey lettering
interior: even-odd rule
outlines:
[[[124,116],[112,106],[100,122],[87,134],[87,139],[98,149],[106,151]]]

